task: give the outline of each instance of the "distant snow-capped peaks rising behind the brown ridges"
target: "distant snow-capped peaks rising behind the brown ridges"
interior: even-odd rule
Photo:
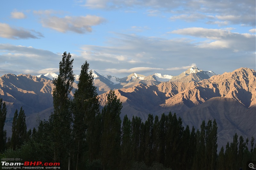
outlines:
[[[209,79],[213,75],[216,75],[212,71],[199,70],[196,66],[190,67],[188,70],[182,72],[180,75],[172,76],[168,74],[155,73],[152,75],[142,75],[138,73],[132,73],[126,77],[118,78],[112,75],[99,74],[95,70],[92,70],[92,75],[94,78],[94,85],[97,87],[98,94],[107,92],[110,89],[122,89],[130,88],[136,86],[137,84],[145,85],[158,85],[161,82],[166,81],[179,81],[179,82],[189,82],[189,81],[202,81],[204,79]],[[52,80],[58,75],[55,73],[40,74],[37,77],[45,78],[47,80]],[[75,84],[79,81],[79,75],[75,75]],[[76,85],[74,86],[76,87]]]

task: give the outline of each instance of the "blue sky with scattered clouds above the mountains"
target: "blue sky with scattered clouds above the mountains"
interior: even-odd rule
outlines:
[[[255,70],[255,0],[44,0],[1,2],[0,75],[74,74],[87,61],[104,75],[216,74]]]

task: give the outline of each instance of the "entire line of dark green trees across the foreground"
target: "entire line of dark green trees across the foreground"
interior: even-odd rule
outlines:
[[[60,162],[61,168],[78,169],[238,169],[256,160],[254,137],[244,141],[235,134],[233,142],[217,153],[216,120],[202,122],[199,129],[182,125],[171,112],[161,117],[127,115],[120,118],[122,103],[114,91],[100,109],[87,61],[81,67],[74,96],[73,59],[64,52],[60,74],[53,80],[54,111],[41,121],[38,130],[27,131],[25,112],[15,111],[12,137],[6,138],[6,105],[0,99],[1,158],[26,161]]]

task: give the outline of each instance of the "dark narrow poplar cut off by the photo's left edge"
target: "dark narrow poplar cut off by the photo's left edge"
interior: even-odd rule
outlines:
[[[0,99],[0,153],[5,150],[6,145],[6,130],[4,130],[4,124],[6,119],[6,105],[3,99]]]

